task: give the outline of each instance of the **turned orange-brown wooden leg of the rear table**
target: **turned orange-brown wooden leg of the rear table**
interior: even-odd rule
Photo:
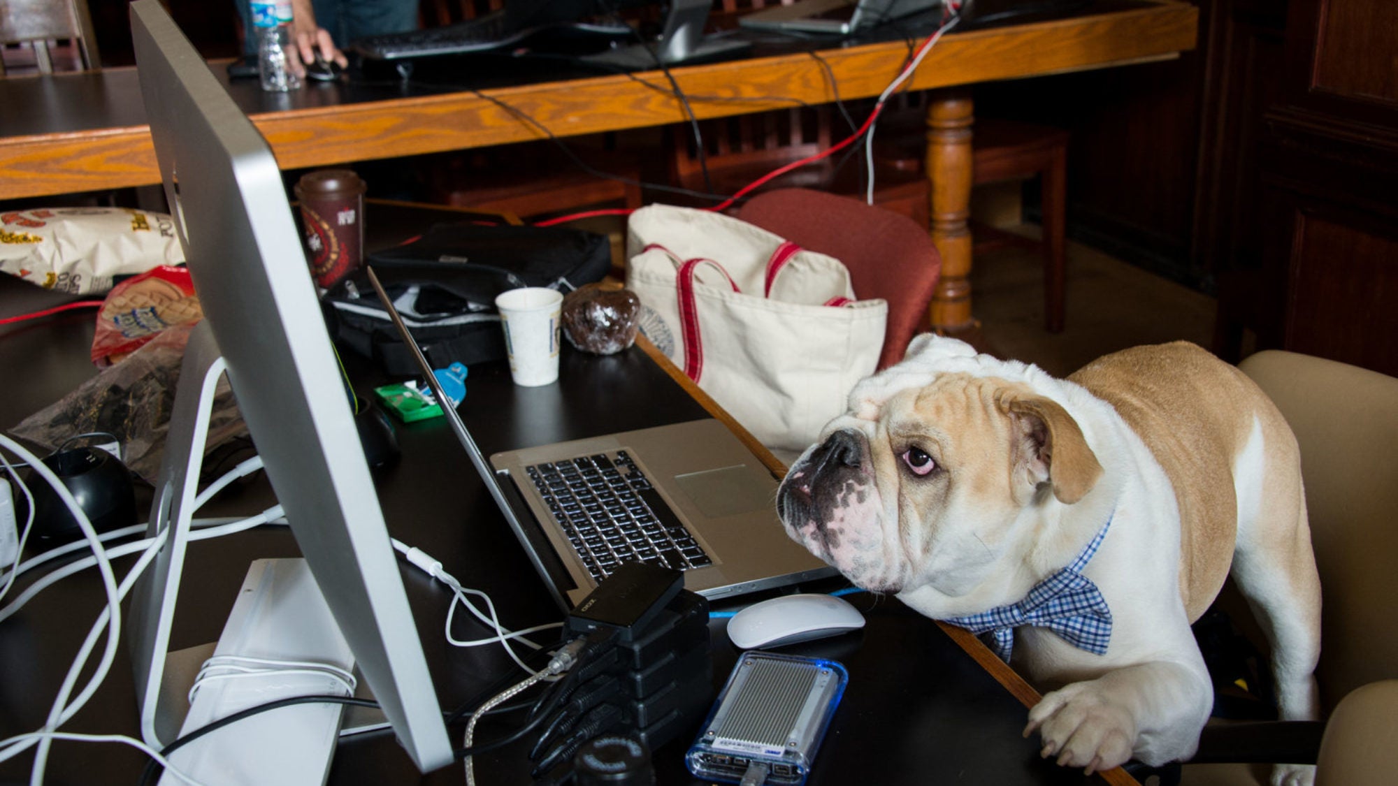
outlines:
[[[937,91],[927,105],[927,176],[931,180],[931,234],[942,257],[930,317],[938,333],[970,333],[970,94]]]

